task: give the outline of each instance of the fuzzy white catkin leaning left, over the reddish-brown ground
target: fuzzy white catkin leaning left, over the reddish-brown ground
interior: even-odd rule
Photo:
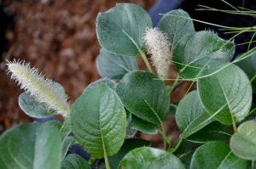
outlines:
[[[20,88],[23,88],[26,93],[30,93],[38,102],[46,104],[49,110],[56,110],[63,116],[70,114],[67,96],[55,91],[52,81],[44,79],[38,69],[31,68],[25,61],[7,62],[8,71],[12,73],[11,79],[18,82]]]

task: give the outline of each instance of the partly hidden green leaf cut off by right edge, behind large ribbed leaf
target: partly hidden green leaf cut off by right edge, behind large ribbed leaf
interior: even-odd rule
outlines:
[[[256,75],[256,53],[254,52],[254,54],[247,57],[247,59],[242,59],[241,61],[237,62],[236,65],[238,65],[242,70],[244,70],[248,78],[251,80],[253,76]],[[253,86],[253,93],[256,93],[256,78],[254,78],[253,82],[251,83]]]

